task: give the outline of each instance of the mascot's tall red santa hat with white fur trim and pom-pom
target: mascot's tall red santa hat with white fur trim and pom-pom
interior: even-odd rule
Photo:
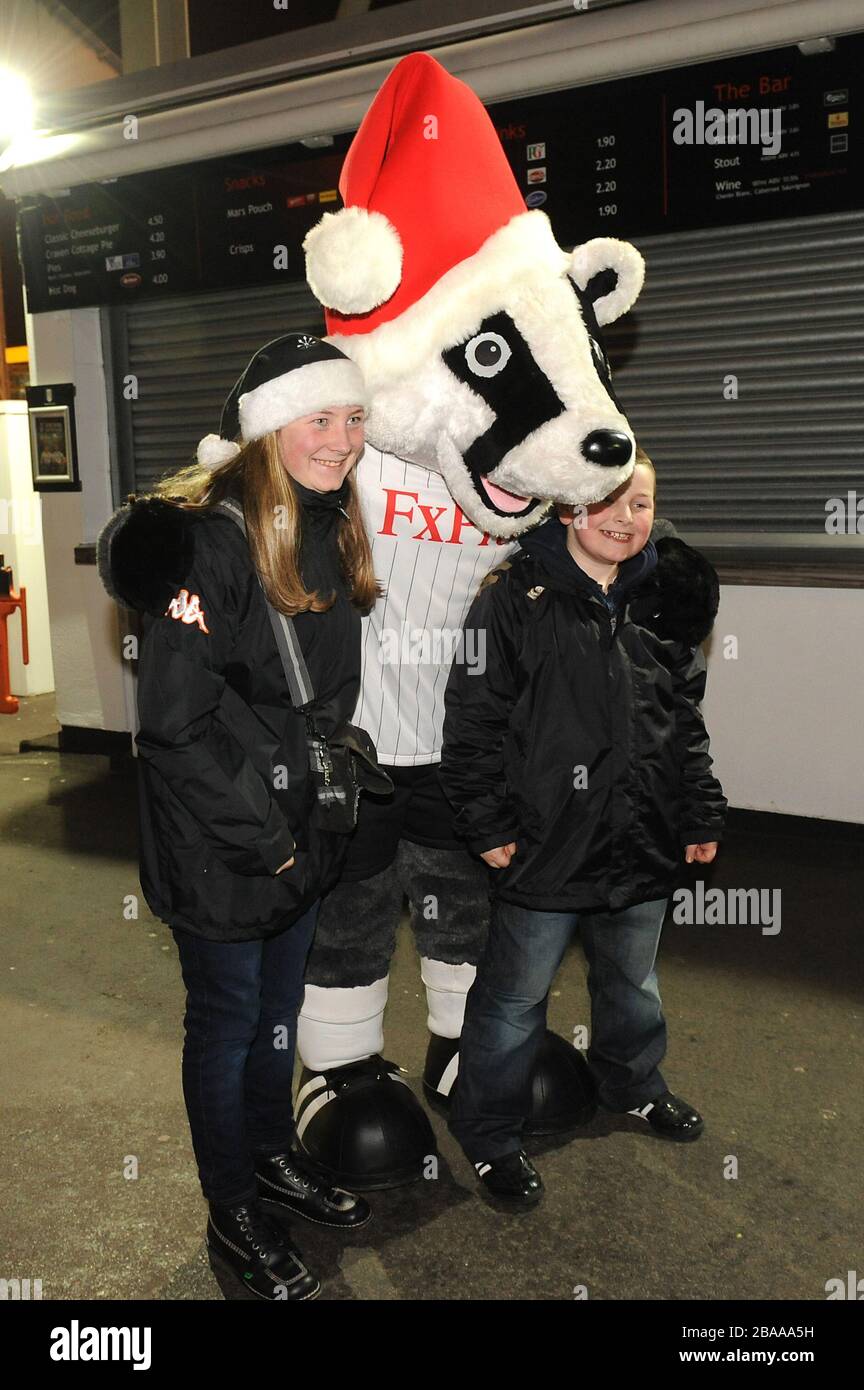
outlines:
[[[346,206],[304,240],[307,278],[369,385],[474,331],[514,277],[571,264],[546,214],[526,211],[479,97],[428,53],[385,81],[339,192]]]

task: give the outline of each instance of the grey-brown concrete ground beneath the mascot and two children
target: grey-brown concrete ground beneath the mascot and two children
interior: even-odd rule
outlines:
[[[0,719],[0,1276],[43,1297],[219,1300],[181,1094],[183,991],[139,894],[133,780],[99,756],[19,753],[53,698]],[[297,1222],[329,1300],[824,1300],[864,1273],[863,827],[732,817],[715,887],[782,888],[782,929],[668,923],[664,1073],[706,1133],[596,1119],[531,1152],[547,1195],[501,1215],[435,1118],[435,1182],[374,1194],[347,1240]],[[588,1020],[574,947],[550,999]],[[417,1081],[425,1006],[400,934],[386,1054]],[[138,1177],[124,1176],[138,1161]],[[735,1159],[738,1176],[726,1176]]]

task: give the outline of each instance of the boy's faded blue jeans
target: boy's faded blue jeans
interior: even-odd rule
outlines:
[[[486,952],[465,1005],[450,1129],[472,1163],[522,1147],[546,999],[574,929],[588,959],[588,1065],[606,1109],[667,1090],[654,962],[667,898],[618,912],[535,912],[493,899]]]

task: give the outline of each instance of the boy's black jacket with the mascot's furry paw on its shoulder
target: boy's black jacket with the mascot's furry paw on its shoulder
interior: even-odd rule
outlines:
[[[663,538],[603,595],[556,516],[520,546],[465,620],[485,673],[454,662],[445,692],[456,831],[475,853],[515,841],[490,873],[507,902],[615,910],[665,897],[683,845],[718,840],[726,808],[699,709],[717,575]]]

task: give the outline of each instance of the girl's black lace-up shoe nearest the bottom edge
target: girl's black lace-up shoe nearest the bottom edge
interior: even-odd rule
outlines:
[[[285,1227],[268,1216],[257,1198],[238,1207],[210,1202],[207,1251],[226,1298],[300,1302],[321,1293]]]

